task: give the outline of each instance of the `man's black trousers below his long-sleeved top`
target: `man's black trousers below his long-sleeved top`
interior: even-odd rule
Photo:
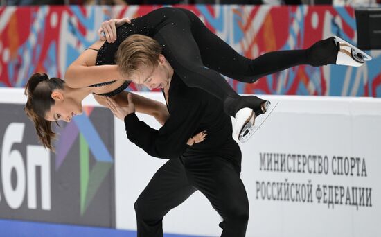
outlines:
[[[170,159],[135,202],[138,236],[163,236],[163,217],[197,190],[224,219],[221,236],[245,236],[249,202],[239,174],[240,168],[222,157]]]

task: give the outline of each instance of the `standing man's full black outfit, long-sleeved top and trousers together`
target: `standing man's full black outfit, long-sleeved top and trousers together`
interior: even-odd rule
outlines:
[[[231,137],[222,103],[202,89],[187,87],[176,74],[170,82],[169,119],[154,130],[136,114],[125,116],[127,137],[149,155],[170,159],[135,203],[138,236],[163,236],[163,216],[200,190],[224,219],[222,236],[245,236],[249,202],[240,179],[241,152]],[[206,130],[202,143],[189,137]]]

